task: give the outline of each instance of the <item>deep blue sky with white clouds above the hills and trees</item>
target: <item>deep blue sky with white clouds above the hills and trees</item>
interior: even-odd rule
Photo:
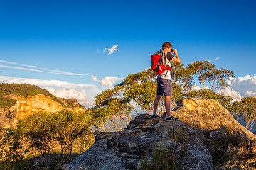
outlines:
[[[210,60],[232,69],[226,94],[256,96],[255,8],[237,0],[1,0],[0,81],[92,106],[100,91],[149,68],[151,53],[169,41],[185,66]]]

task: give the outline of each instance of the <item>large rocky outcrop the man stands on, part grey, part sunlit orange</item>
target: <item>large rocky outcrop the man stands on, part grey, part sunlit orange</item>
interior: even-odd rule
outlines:
[[[158,152],[176,169],[254,169],[255,135],[218,101],[183,99],[171,115],[179,120],[145,114],[122,132],[100,133],[63,169],[140,169],[156,164]]]

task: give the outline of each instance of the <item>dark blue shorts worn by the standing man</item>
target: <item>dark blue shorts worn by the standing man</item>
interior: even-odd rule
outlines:
[[[172,96],[172,85],[171,80],[157,78],[157,91],[156,95],[160,96]]]

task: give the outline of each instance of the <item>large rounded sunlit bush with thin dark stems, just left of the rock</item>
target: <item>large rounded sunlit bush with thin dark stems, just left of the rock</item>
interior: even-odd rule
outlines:
[[[41,169],[59,169],[70,162],[72,154],[84,152],[92,145],[85,113],[61,111],[58,113],[38,112],[18,122],[17,130],[23,135],[29,149],[36,150]]]

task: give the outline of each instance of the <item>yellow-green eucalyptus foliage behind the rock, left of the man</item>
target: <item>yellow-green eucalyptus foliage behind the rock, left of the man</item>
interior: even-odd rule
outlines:
[[[87,114],[91,115],[92,123],[105,132],[104,126],[110,128],[105,123],[110,120],[114,127],[112,130],[122,130],[124,128],[122,121],[129,123],[132,120],[129,113],[134,109],[133,102],[141,106],[144,111],[151,111],[156,86],[156,82],[151,79],[154,77],[156,75],[151,69],[129,74],[121,84],[95,96],[95,106],[87,110]]]

